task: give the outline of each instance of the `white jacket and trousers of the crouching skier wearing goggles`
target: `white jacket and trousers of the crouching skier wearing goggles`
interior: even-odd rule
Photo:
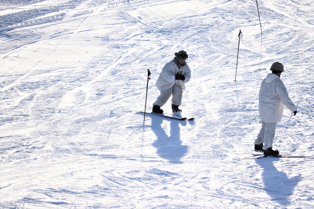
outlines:
[[[176,58],[175,58],[176,59]],[[175,75],[182,71],[182,75],[185,76],[185,80],[175,80]],[[160,90],[160,96],[157,98],[154,105],[160,107],[164,106],[172,94],[172,104],[181,105],[182,89],[185,89],[185,83],[190,81],[191,70],[187,64],[183,65],[180,70],[174,60],[171,60],[161,70],[161,73],[156,81],[156,86]]]

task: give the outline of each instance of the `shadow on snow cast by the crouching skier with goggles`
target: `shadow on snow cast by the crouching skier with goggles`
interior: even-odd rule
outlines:
[[[152,145],[157,149],[159,157],[167,159],[171,163],[182,163],[180,159],[187,154],[188,146],[182,145],[179,123],[186,125],[187,122],[170,119],[170,136],[168,136],[164,128],[161,127],[163,120],[158,116],[152,117],[151,128],[157,137]]]

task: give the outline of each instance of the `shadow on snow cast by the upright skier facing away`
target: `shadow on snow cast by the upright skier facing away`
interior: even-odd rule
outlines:
[[[295,186],[301,180],[301,175],[289,178],[286,173],[277,170],[273,163],[279,161],[278,158],[256,159],[255,161],[263,168],[263,190],[272,198],[272,201],[282,206],[290,205],[289,196],[293,195]]]

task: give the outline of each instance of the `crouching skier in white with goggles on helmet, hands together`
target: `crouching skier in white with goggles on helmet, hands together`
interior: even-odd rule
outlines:
[[[160,107],[164,106],[172,94],[171,109],[176,115],[181,116],[182,110],[179,109],[181,105],[182,93],[185,89],[185,83],[190,81],[191,70],[185,60],[188,55],[186,51],[179,51],[175,53],[175,58],[168,62],[156,81],[157,89],[160,90],[160,95],[153,104],[154,113],[163,114],[164,111]]]

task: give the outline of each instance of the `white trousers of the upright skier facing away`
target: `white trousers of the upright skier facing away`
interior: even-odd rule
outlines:
[[[273,139],[275,136],[275,129],[277,123],[266,123],[261,120],[262,128],[257,135],[257,139],[254,144],[262,144],[264,143],[263,149],[268,149],[273,146]]]

